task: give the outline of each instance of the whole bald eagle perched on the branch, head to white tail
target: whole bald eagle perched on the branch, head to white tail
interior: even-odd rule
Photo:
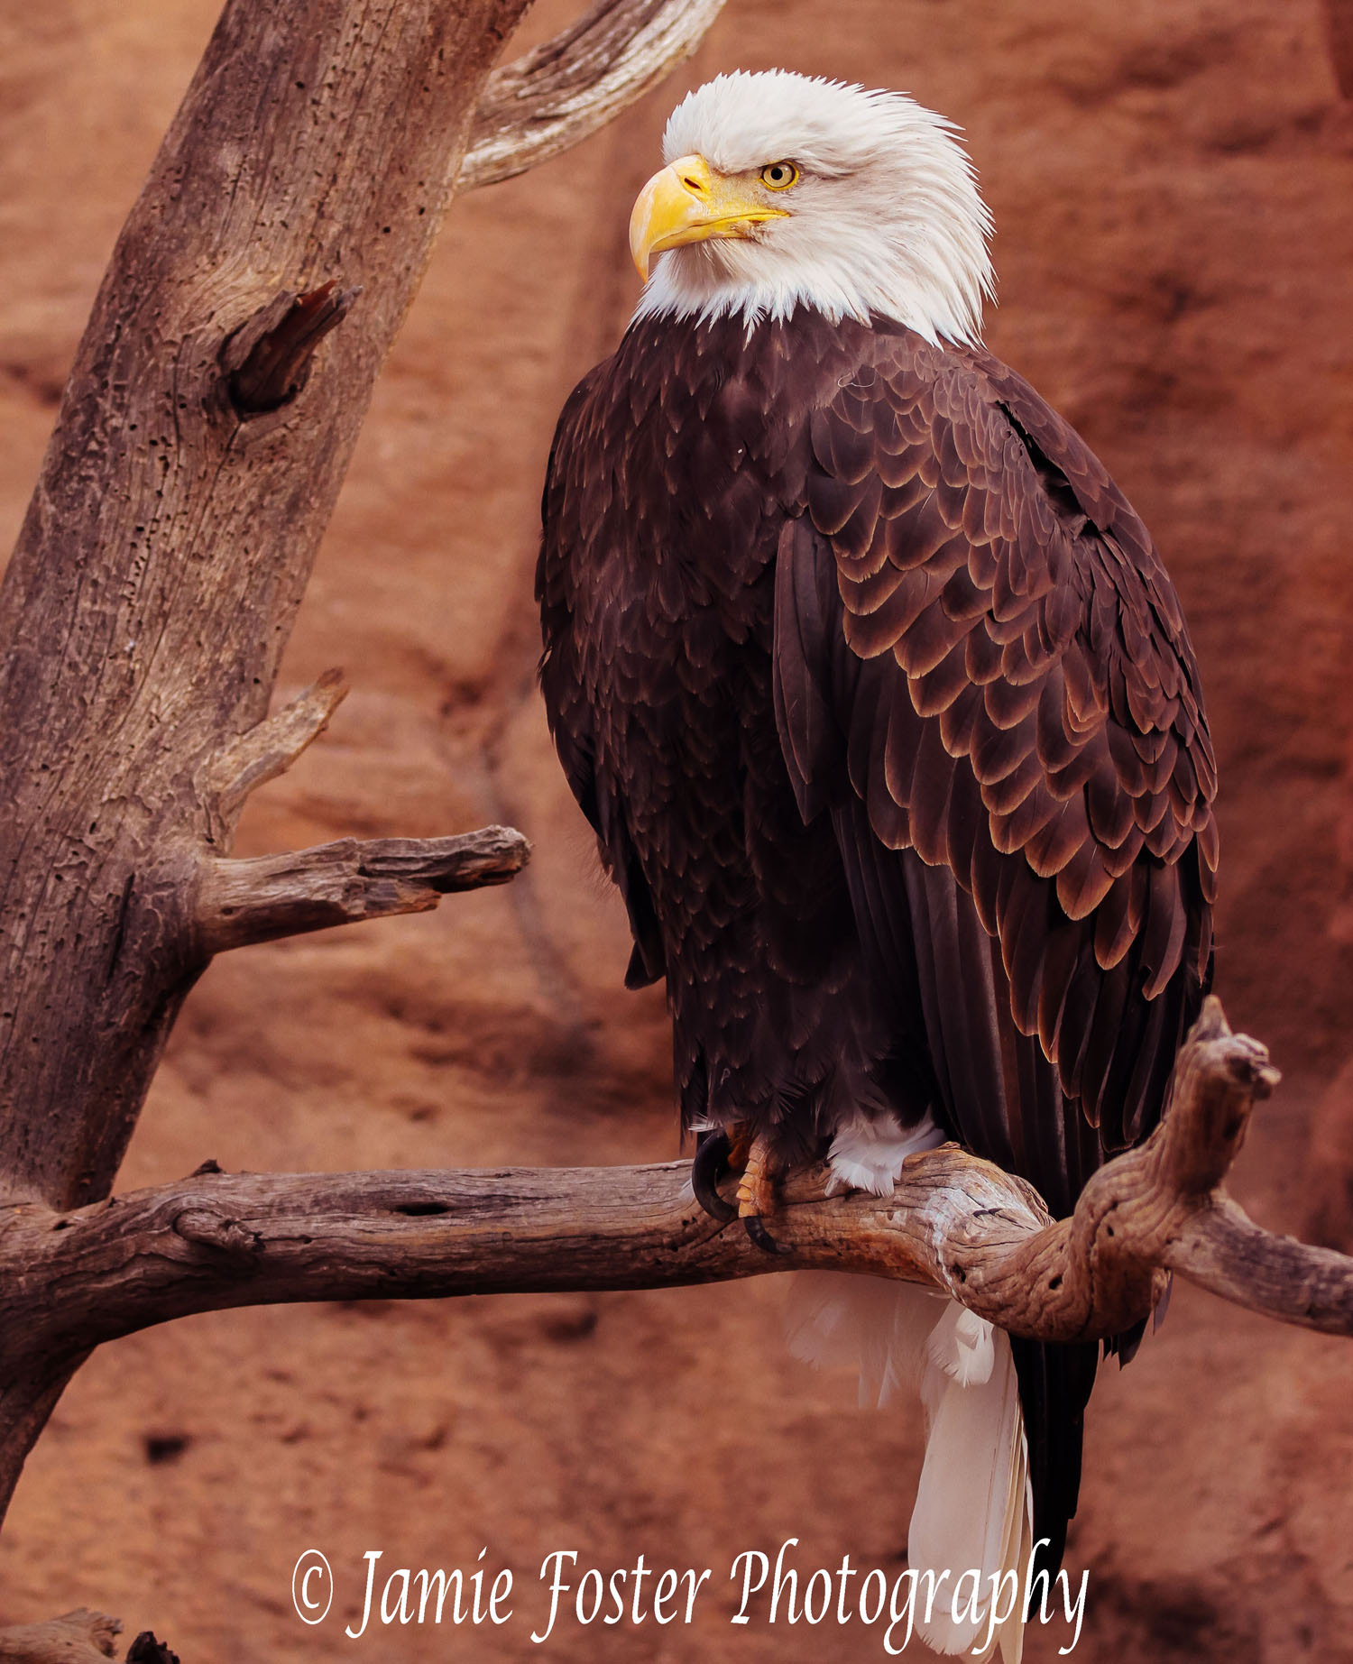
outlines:
[[[1065,1215],[1158,1120],[1210,980],[1217,774],[1178,599],[982,346],[990,221],[950,123],[722,75],[664,163],[637,311],[559,419],[536,579],[626,982],[666,980],[682,1125],[737,1151],[764,1246],[777,1173],[889,1193],[942,1138]],[[804,1346],[920,1384],[912,1564],[1038,1541],[1055,1569],[1097,1348],[864,1278],[809,1298]]]

